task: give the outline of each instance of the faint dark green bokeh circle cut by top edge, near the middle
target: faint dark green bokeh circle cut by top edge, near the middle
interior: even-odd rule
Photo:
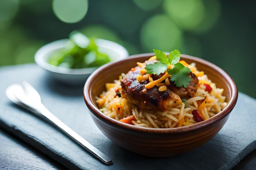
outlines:
[[[157,8],[163,0],[133,0],[138,7],[145,11]]]

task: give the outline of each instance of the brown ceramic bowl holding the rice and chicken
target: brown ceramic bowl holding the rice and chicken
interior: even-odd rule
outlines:
[[[195,62],[198,70],[204,71],[209,79],[223,88],[227,106],[208,120],[179,128],[142,128],[112,119],[99,110],[96,96],[105,91],[105,84],[118,79],[121,73],[127,73],[136,62],[144,62],[154,53],[132,55],[124,60],[112,62],[98,68],[87,79],[84,86],[85,104],[90,110],[93,121],[113,143],[150,157],[169,157],[188,152],[209,141],[226,123],[231,110],[236,105],[238,90],[231,77],[218,66],[190,55],[182,55],[181,60],[188,64]]]

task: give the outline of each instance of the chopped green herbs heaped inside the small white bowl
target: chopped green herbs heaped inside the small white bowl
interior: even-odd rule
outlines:
[[[102,66],[110,61],[110,57],[104,51],[98,50],[94,39],[79,31],[73,31],[65,47],[55,51],[48,62],[64,68],[88,68]]]

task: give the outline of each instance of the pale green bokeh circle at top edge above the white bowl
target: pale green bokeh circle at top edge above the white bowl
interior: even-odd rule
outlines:
[[[54,14],[63,22],[75,23],[83,19],[88,11],[88,0],[53,0]]]

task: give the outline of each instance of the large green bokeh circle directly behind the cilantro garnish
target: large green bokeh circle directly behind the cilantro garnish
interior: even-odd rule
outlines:
[[[164,14],[148,19],[141,28],[141,43],[146,52],[172,51],[182,44],[182,31]]]

